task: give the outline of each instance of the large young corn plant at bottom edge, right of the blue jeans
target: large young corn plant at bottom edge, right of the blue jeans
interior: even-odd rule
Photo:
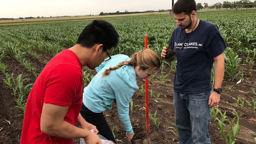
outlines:
[[[218,128],[220,129],[220,134],[225,138],[227,144],[235,144],[235,141],[236,141],[235,136],[240,132],[238,113],[236,113],[235,109],[233,109],[233,112],[236,115],[235,118],[237,118],[237,122],[234,124],[235,118],[232,119],[231,121],[229,119],[227,119],[227,121],[229,122],[230,127],[231,127],[230,131],[228,130],[226,125],[220,119],[216,118],[218,120]],[[224,133],[224,128],[225,128],[226,132],[228,133],[229,139],[227,138],[227,135]]]

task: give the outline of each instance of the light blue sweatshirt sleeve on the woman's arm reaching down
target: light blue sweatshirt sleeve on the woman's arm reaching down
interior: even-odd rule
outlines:
[[[118,117],[124,127],[124,130],[126,130],[128,134],[133,133],[132,124],[130,123],[129,118],[129,102],[134,92],[135,90],[126,83],[123,83],[119,90],[115,92]]]

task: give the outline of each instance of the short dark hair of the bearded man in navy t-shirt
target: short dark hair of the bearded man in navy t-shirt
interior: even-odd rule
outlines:
[[[192,11],[196,11],[196,1],[194,0],[177,0],[172,6],[172,12],[174,14],[184,12],[186,15],[190,16]]]

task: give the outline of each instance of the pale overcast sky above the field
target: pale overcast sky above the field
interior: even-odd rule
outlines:
[[[223,0],[196,0],[199,2],[210,6]],[[146,11],[171,6],[172,0],[0,0],[0,18],[98,15],[102,11]]]

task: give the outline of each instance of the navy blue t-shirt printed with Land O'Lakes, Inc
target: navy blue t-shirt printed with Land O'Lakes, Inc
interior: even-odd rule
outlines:
[[[182,94],[206,92],[212,89],[210,82],[213,58],[226,48],[219,28],[210,22],[200,20],[190,34],[180,26],[172,32],[169,47],[176,52],[177,67],[174,77],[174,90]],[[182,49],[182,41],[187,38]]]

